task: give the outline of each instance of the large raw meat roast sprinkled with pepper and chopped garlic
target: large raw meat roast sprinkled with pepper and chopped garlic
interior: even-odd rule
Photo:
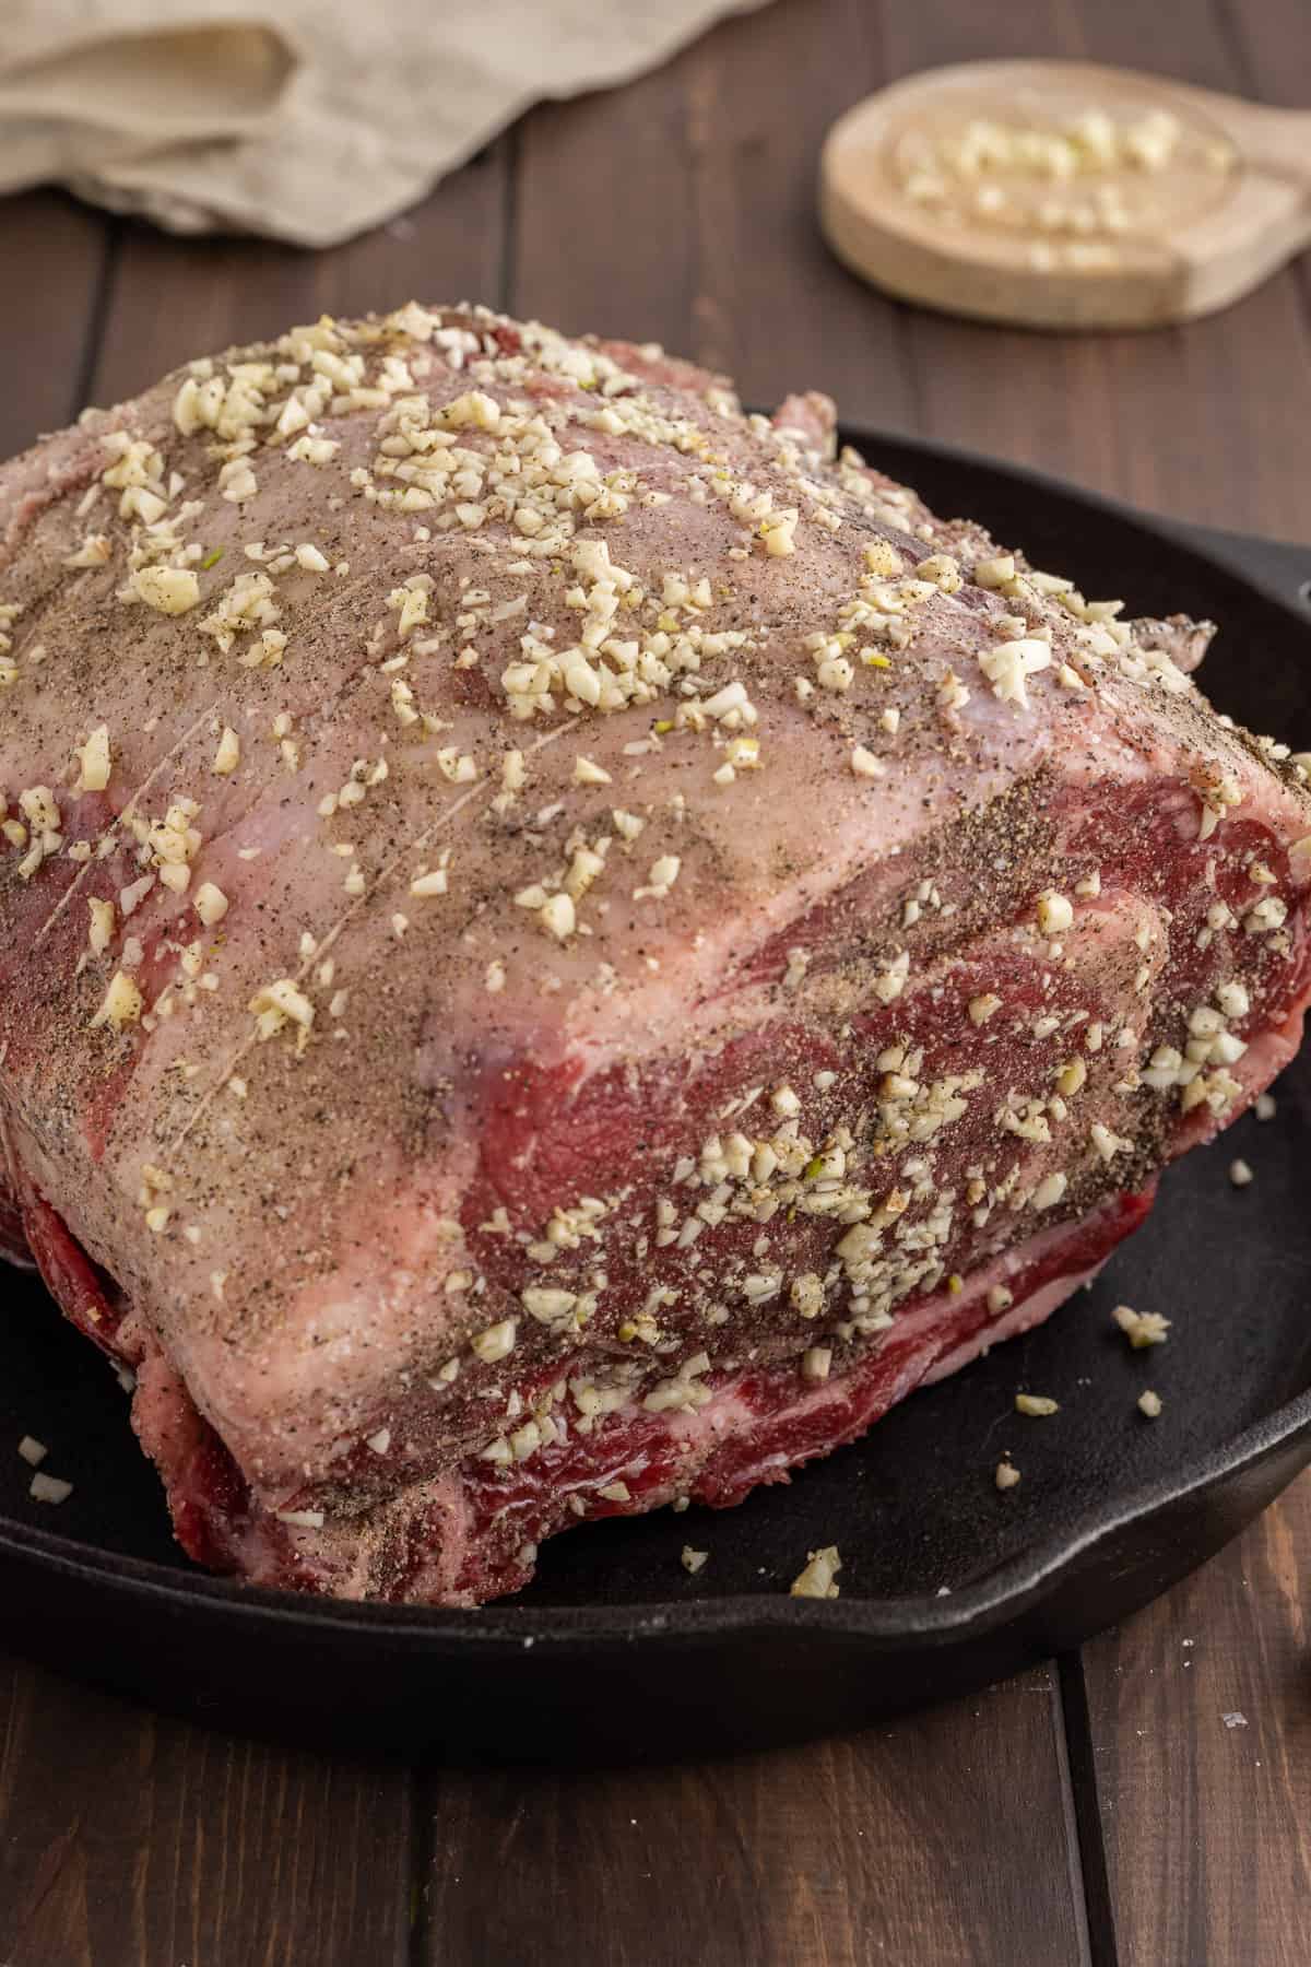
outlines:
[[[10,1251],[183,1546],[464,1605],[1046,1318],[1293,1052],[1311,801],[818,395],[320,321],[0,470]]]

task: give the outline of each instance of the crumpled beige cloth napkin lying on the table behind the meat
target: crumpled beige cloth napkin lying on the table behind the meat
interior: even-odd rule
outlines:
[[[4,0],[0,191],[332,246],[765,0]]]

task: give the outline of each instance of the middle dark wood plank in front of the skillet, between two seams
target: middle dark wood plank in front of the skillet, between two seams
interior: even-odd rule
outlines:
[[[434,1776],[421,1957],[428,1967],[1085,1961],[1059,1735],[1055,1680],[1042,1670],[780,1755]]]

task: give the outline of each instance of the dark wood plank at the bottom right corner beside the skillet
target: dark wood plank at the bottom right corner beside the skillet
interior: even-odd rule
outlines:
[[[1120,1967],[1311,1959],[1309,1572],[1303,1475],[1085,1648]]]

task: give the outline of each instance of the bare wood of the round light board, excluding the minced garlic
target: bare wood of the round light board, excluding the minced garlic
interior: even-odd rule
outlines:
[[[1128,173],[1150,222],[1065,238],[995,222],[969,181],[947,203],[908,191],[916,146],[971,124],[1059,130],[1089,110],[1175,120],[1175,155]],[[1034,328],[1160,327],[1228,307],[1311,240],[1311,114],[1081,61],[926,69],[833,126],[820,218],[833,252],[900,299]]]

